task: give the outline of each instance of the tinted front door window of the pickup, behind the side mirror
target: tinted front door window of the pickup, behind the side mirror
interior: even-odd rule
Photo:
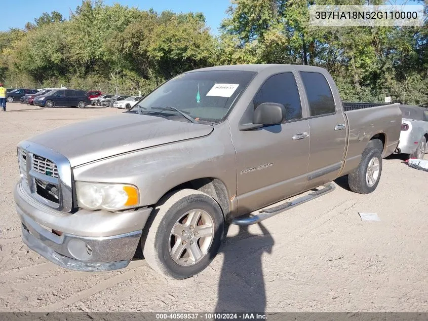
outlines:
[[[292,73],[270,77],[254,97],[254,109],[263,102],[282,103],[285,106],[285,121],[302,118],[299,90]]]

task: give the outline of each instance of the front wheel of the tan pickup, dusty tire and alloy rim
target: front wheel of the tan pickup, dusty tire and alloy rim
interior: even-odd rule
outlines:
[[[165,277],[175,279],[188,278],[204,270],[217,255],[223,239],[223,213],[217,202],[205,193],[184,189],[164,196],[154,213],[141,239],[148,265]],[[191,225],[192,222],[197,223]],[[198,238],[201,230],[197,226],[206,226],[208,236]],[[174,247],[178,247],[178,251],[174,251]]]

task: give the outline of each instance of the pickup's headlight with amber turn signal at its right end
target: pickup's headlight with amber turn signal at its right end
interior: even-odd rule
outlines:
[[[76,182],[79,207],[119,210],[138,206],[138,189],[128,184]]]

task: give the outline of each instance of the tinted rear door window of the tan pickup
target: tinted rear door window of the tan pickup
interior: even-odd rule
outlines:
[[[310,116],[332,114],[336,111],[327,79],[320,73],[300,72],[309,102]]]

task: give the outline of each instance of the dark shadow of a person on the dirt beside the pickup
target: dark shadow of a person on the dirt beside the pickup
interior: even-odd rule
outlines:
[[[220,253],[224,261],[218,282],[215,312],[264,312],[266,292],[263,279],[262,256],[271,253],[274,239],[258,223],[262,234],[251,234],[248,226],[240,226],[239,233],[226,237]],[[228,228],[225,228],[227,233]]]

